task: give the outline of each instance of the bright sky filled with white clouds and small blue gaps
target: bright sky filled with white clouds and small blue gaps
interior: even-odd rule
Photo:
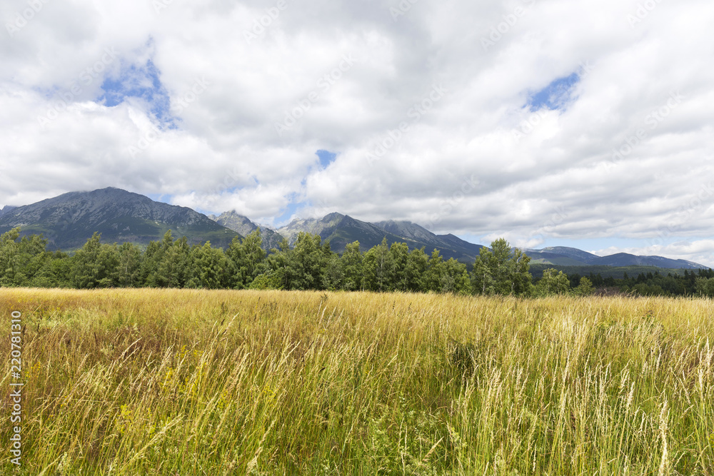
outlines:
[[[281,226],[714,266],[710,0],[4,0],[0,206],[114,186]]]

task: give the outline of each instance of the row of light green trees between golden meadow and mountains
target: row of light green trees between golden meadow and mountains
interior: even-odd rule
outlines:
[[[0,286],[38,288],[205,288],[284,290],[368,290],[413,293],[539,296],[588,295],[602,285],[598,276],[573,277],[548,269],[533,282],[531,258],[503,238],[482,248],[472,266],[438,250],[409,250],[386,238],[361,251],[355,241],[340,255],[321,237],[299,233],[293,246],[261,248],[261,233],[234,238],[228,247],[189,245],[171,231],[142,250],[134,243],[101,243],[101,235],[70,255],[47,249],[41,235],[20,238],[20,229],[0,236]],[[710,276],[714,294],[714,275]],[[704,278],[700,278],[704,279]],[[602,278],[600,278],[600,281]],[[633,283],[637,285],[638,283]],[[707,290],[706,285],[703,290]],[[708,295],[712,295],[708,294]]]

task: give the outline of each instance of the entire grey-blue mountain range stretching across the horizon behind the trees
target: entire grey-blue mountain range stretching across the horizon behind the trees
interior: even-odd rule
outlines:
[[[80,248],[94,232],[101,233],[105,243],[126,241],[146,245],[160,240],[169,229],[175,238],[186,236],[188,242],[225,247],[234,237],[242,238],[261,228],[263,248],[278,248],[287,238],[293,244],[300,232],[319,235],[330,243],[331,249],[341,253],[348,243],[359,241],[362,250],[388,243],[407,243],[410,249],[424,248],[426,253],[437,249],[446,259],[456,258],[473,263],[483,245],[469,243],[457,236],[436,235],[409,221],[381,221],[368,223],[341,213],[330,213],[323,218],[296,219],[277,231],[253,223],[237,211],[226,211],[219,216],[206,216],[191,208],[156,202],[151,198],[121,190],[102,188],[91,192],[70,192],[26,206],[5,206],[0,209],[0,233],[21,227],[22,235],[42,233],[52,249]],[[661,256],[637,256],[617,253],[598,256],[577,248],[556,246],[540,250],[528,249],[532,263],[561,266],[645,265],[658,268],[707,268],[687,260],[673,260]]]

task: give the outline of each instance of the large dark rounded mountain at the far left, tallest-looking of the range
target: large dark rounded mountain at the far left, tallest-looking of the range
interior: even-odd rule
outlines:
[[[12,208],[0,216],[0,233],[21,227],[22,235],[42,233],[50,248],[80,248],[92,234],[104,243],[131,241],[148,244],[171,229],[174,238],[188,242],[227,246],[235,231],[191,208],[155,202],[119,188],[70,192],[31,205]]]

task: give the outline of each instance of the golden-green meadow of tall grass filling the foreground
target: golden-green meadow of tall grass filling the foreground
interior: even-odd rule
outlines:
[[[1,289],[0,473],[714,475],[713,304]]]

